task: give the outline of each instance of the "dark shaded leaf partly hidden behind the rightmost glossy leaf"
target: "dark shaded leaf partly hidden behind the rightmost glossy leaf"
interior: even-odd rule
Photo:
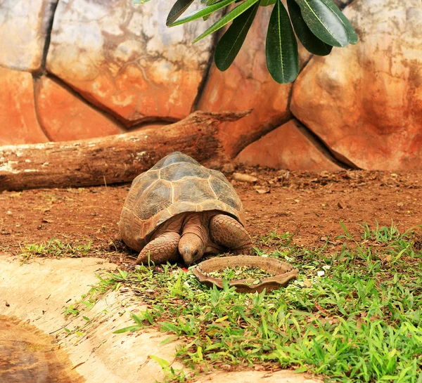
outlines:
[[[300,6],[296,4],[295,0],[287,0],[287,6],[296,35],[307,51],[318,56],[328,55],[333,47],[324,43],[324,41],[321,41],[311,30],[309,30],[309,27],[302,18]]]

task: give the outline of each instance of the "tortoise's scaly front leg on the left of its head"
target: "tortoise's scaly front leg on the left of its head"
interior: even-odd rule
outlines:
[[[177,247],[179,245],[179,233],[164,233],[155,240],[148,242],[139,253],[136,264],[148,265],[148,254],[150,262],[154,264],[165,264],[167,261],[176,261],[179,257]]]

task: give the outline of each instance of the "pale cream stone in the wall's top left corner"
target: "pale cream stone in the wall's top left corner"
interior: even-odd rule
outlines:
[[[0,0],[0,65],[36,71],[58,0]]]

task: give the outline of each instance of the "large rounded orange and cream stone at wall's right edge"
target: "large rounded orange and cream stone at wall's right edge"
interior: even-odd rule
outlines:
[[[421,169],[421,1],[355,0],[345,15],[360,41],[312,58],[291,110],[344,162]]]

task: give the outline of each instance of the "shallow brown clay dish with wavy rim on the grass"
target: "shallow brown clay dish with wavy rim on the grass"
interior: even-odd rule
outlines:
[[[238,292],[262,292],[264,289],[269,291],[278,289],[279,287],[286,287],[290,279],[298,276],[298,270],[293,268],[293,266],[286,264],[286,262],[279,261],[279,259],[252,255],[237,255],[234,257],[215,257],[207,259],[193,268],[192,273],[201,283],[204,283],[209,287],[216,285],[222,289],[222,278],[211,277],[205,275],[205,273],[221,271],[226,267],[233,268],[235,266],[256,266],[262,268],[264,271],[267,271],[267,273],[274,274],[272,277],[260,278],[261,282],[256,285],[253,284],[256,278],[230,280],[229,285],[236,287]]]

